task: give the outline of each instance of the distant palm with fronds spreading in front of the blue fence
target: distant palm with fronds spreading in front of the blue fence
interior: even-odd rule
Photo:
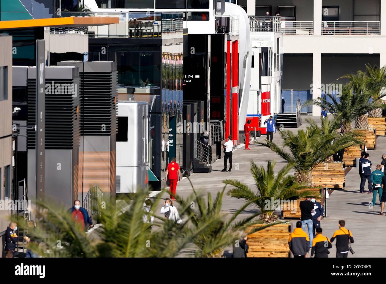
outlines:
[[[352,122],[372,109],[381,107],[379,100],[371,100],[372,93],[368,88],[356,92],[356,88],[350,83],[342,86],[339,97],[332,94],[327,94],[327,96],[330,101],[318,97],[314,100],[307,100],[304,106],[314,104],[325,107],[328,112],[338,119],[337,121],[340,120],[341,133],[350,132]]]

